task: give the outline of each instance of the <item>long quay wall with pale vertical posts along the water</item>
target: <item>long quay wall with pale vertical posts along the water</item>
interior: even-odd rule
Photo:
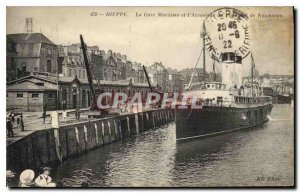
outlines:
[[[7,146],[7,169],[38,170],[174,121],[174,110],[158,109],[38,130]]]

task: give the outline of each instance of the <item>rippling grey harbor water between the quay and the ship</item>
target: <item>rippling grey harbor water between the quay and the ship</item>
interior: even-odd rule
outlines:
[[[51,177],[66,187],[226,187],[294,184],[294,117],[274,105],[252,129],[176,143],[175,124],[70,159]]]

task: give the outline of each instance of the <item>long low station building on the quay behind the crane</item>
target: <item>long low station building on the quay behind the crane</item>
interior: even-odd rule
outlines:
[[[102,92],[123,92],[133,96],[140,92],[146,97],[150,89],[147,83],[134,83],[130,80],[107,81],[93,80],[94,89],[98,86]],[[58,93],[58,97],[57,97]],[[47,110],[87,108],[92,100],[87,79],[75,77],[55,77],[47,74],[31,73],[29,76],[11,81],[6,86],[7,108],[21,108],[22,111],[42,111],[43,105]],[[64,101],[64,102],[63,102]]]

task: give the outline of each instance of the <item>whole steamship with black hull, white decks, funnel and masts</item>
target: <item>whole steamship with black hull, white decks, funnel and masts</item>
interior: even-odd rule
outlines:
[[[205,74],[204,43],[202,53]],[[232,52],[221,55],[222,81],[205,81],[204,78],[203,82],[192,83],[192,75],[184,91],[188,96],[186,108],[180,108],[182,100],[175,109],[177,141],[254,128],[268,121],[273,107],[272,97],[264,96],[259,83],[253,81],[255,64],[252,54],[251,61],[252,81],[248,82],[242,81],[242,58]],[[198,108],[193,108],[193,103]]]

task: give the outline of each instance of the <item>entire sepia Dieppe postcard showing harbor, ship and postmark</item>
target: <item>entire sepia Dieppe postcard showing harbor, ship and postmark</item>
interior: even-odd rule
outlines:
[[[295,187],[293,7],[6,8],[6,185]]]

